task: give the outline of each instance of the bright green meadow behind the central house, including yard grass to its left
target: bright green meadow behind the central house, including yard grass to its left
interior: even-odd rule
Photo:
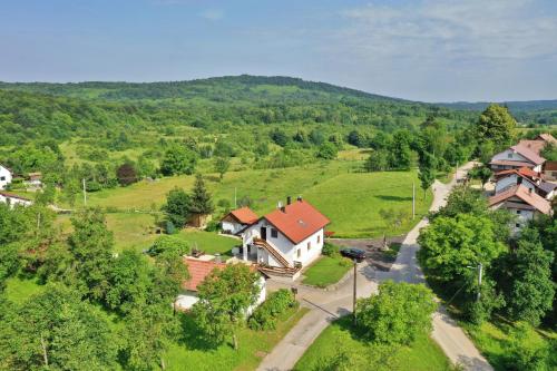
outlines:
[[[226,173],[219,182],[217,175],[206,174],[206,184],[215,204],[226,201],[250,199],[251,207],[264,215],[273,211],[286,196],[302,196],[331,219],[329,231],[338,237],[377,237],[403,234],[424,215],[431,203],[431,192],[423,195],[419,188],[417,170],[362,173],[358,153],[343,154],[342,159],[301,165],[285,169],[250,169]],[[417,187],[417,216],[411,218],[412,183]],[[166,177],[141,180],[128,187],[105,189],[88,195],[89,206],[108,211],[107,223],[115,233],[117,250],[145,250],[156,238],[154,226],[164,215],[160,206],[174,187],[189,191],[194,176]],[[393,230],[380,217],[381,209],[402,209],[405,218]],[[219,218],[224,208],[217,207]],[[180,233],[184,240],[202,244],[203,250],[222,252],[218,246],[234,245],[234,241],[214,233]],[[223,240],[224,238],[224,240]]]

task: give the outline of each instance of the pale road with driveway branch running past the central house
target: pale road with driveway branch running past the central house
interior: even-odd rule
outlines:
[[[463,177],[471,166],[472,164],[467,164],[461,167],[457,172],[458,177]],[[446,203],[446,198],[455,185],[455,180],[449,184],[436,182],[433,185],[434,197],[431,209],[438,209]],[[416,241],[420,228],[427,224],[428,221],[424,218],[410,231],[389,272],[377,272],[368,262],[359,264],[356,276],[359,297],[365,297],[375,293],[378,282],[383,280],[412,283],[424,281],[416,257],[416,253],[419,250]],[[297,360],[329,323],[342,315],[352,313],[352,284],[353,281],[348,280],[336,291],[324,292],[306,286],[297,286],[296,284],[270,283],[271,290],[290,286],[299,287],[299,300],[301,300],[303,305],[312,310],[265,357],[257,370],[292,370]],[[462,329],[450,319],[443,307],[440,307],[433,315],[432,336],[453,363],[461,363],[467,370],[492,370],[473,343],[466,336]]]

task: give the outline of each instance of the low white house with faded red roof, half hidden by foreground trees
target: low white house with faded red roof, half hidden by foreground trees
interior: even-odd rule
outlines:
[[[184,282],[184,292],[176,299],[175,305],[179,310],[189,310],[195,303],[199,301],[197,297],[197,286],[205,280],[207,275],[214,270],[223,270],[226,263],[215,262],[211,255],[203,255],[202,257],[184,256],[184,264],[187,265],[187,271],[189,273],[189,279]],[[243,264],[243,263],[237,263]],[[256,271],[256,266],[252,265],[251,269]],[[257,281],[257,286],[260,287],[260,293],[255,305],[247,310],[250,314],[257,305],[263,303],[266,299],[266,282],[265,277],[261,275]]]

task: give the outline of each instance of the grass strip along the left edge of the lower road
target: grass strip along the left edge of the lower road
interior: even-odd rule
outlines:
[[[307,311],[307,309],[302,307],[284,313],[277,321],[277,328],[274,331],[241,330],[237,351],[234,351],[229,344],[211,348],[195,338],[194,323],[185,321],[185,338],[183,341],[172,344],[165,358],[167,370],[255,370],[265,354]]]

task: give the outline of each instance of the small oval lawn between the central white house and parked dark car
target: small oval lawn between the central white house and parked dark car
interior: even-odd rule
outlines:
[[[303,273],[302,283],[326,287],[339,282],[352,266],[352,262],[341,255],[323,255]]]

